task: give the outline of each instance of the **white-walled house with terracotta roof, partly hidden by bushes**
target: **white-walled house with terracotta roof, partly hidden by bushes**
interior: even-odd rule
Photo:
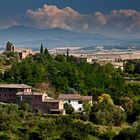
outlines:
[[[82,96],[80,94],[60,94],[59,99],[62,99],[64,103],[71,104],[75,112],[83,111],[84,101],[89,101],[92,105],[92,96]]]

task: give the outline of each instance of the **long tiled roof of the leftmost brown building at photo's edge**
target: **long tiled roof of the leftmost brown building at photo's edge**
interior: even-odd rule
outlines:
[[[0,88],[31,88],[28,85],[24,84],[0,84]]]

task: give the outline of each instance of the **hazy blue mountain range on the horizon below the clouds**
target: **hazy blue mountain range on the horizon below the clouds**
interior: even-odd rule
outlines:
[[[127,43],[127,39],[107,37],[101,34],[80,33],[59,28],[37,29],[25,26],[15,26],[0,30],[0,45],[5,45],[7,41],[11,41],[16,47],[30,47],[33,49],[38,49],[41,43],[47,48],[86,48]]]

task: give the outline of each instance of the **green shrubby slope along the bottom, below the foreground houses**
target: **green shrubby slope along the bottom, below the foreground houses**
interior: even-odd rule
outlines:
[[[34,114],[27,104],[25,104],[25,106],[0,104],[0,112],[0,139],[2,140],[88,140],[93,138],[93,136],[99,139],[111,139],[116,135],[113,130],[114,127],[110,128],[81,121],[80,114]],[[117,129],[121,130],[119,127]],[[122,132],[120,132],[120,134],[121,133]],[[125,135],[129,136],[131,134],[128,133],[129,131],[127,131]],[[134,129],[134,133],[135,137],[139,138],[139,123],[136,129]]]

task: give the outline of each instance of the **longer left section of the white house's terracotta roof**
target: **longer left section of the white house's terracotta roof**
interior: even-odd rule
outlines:
[[[58,98],[80,100],[82,99],[82,96],[80,94],[60,94]]]

